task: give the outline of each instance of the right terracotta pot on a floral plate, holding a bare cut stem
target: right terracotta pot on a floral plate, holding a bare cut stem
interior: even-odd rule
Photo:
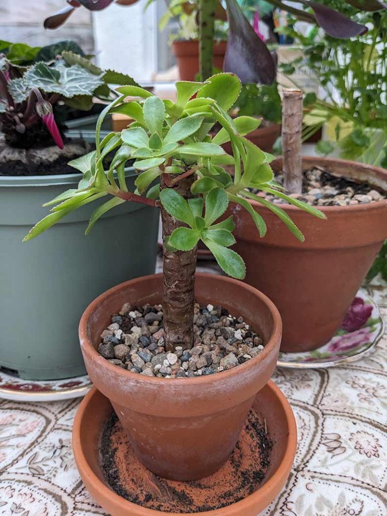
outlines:
[[[341,159],[304,157],[315,166],[387,190],[387,171]],[[282,169],[282,159],[272,163]],[[369,267],[387,237],[387,201],[356,206],[322,206],[327,220],[281,204],[305,236],[300,243],[280,219],[259,203],[265,219],[260,238],[250,215],[231,205],[237,244],[246,262],[246,281],[275,302],[283,320],[281,350],[309,351],[327,343],[340,327]]]

